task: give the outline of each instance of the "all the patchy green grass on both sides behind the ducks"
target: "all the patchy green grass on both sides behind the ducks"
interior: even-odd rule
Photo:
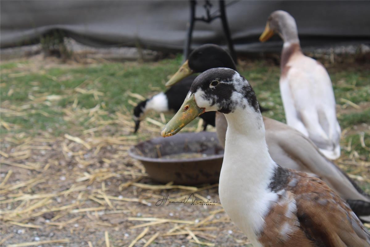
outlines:
[[[1,121],[15,124],[17,128],[2,133],[23,131],[33,134],[49,130],[53,135],[63,134],[71,127],[80,130],[92,127],[89,116],[79,119],[65,117],[64,109],[92,109],[98,107],[105,114],[101,120],[113,119],[115,113],[132,112],[132,103],[138,99],[129,97],[128,92],[151,96],[165,90],[164,83],[168,76],[175,73],[181,65],[181,56],[151,63],[94,63],[62,66],[49,62],[33,60],[11,61],[1,63],[1,103],[5,108],[21,111],[20,116],[1,113]],[[266,61],[241,62],[239,72],[245,76],[258,95],[260,104],[270,109],[265,115],[285,122],[284,110],[280,97],[278,80],[280,69]],[[349,100],[354,104],[368,101],[370,94],[370,71],[352,66],[338,69],[329,66],[337,104],[344,109],[339,113],[342,129],[361,123],[370,123],[369,105],[353,111],[348,106]],[[84,91],[76,91],[83,89]],[[57,96],[38,104],[37,100],[45,96]],[[77,100],[77,102],[76,102]],[[9,107],[8,107],[9,106]],[[21,107],[27,107],[21,109]],[[157,115],[152,115],[156,117]],[[169,116],[170,117],[170,116]],[[168,118],[169,118],[168,117]],[[350,137],[345,138],[345,142]],[[352,138],[353,139],[353,138]],[[365,138],[366,143],[368,138]],[[354,140],[354,139],[353,139]],[[363,152],[362,152],[363,153]],[[367,157],[368,158],[368,157]]]

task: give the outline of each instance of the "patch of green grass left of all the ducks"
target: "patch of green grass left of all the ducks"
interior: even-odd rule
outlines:
[[[147,95],[148,90],[163,90],[167,74],[176,70],[179,59],[163,60],[159,63],[105,63],[91,66],[67,69],[51,68],[40,69],[35,72],[25,71],[27,63],[1,64],[1,102],[14,107],[30,104],[27,113],[22,116],[7,116],[2,114],[3,121],[17,124],[17,131],[32,131],[37,133],[48,128],[66,129],[71,123],[63,120],[63,108],[70,106],[78,100],[78,107],[91,109],[97,105],[104,105],[108,113],[120,111],[122,107],[132,110],[128,104],[127,92]],[[98,93],[78,93],[77,87],[84,90],[93,90]],[[32,99],[44,95],[63,96],[57,103],[33,104]],[[44,114],[46,113],[46,114]],[[109,116],[108,116],[109,119]],[[80,121],[83,124],[84,120]],[[6,133],[6,130],[3,130]],[[60,131],[53,131],[60,134]]]

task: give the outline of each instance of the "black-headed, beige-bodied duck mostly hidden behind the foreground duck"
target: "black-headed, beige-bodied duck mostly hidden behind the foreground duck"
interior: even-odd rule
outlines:
[[[236,70],[235,63],[226,50],[215,44],[204,44],[189,54],[188,60],[166,85],[175,86],[176,81],[192,73],[201,73],[217,67]],[[344,171],[326,158],[309,138],[295,128],[265,116],[262,119],[265,124],[269,154],[276,163],[320,178],[347,201],[362,221],[370,222],[370,196]],[[225,147],[227,127],[224,114],[216,112],[216,131],[223,147]]]

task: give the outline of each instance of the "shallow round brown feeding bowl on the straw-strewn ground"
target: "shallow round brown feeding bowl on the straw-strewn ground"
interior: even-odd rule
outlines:
[[[168,158],[173,154],[202,153],[204,157]],[[129,155],[140,160],[149,176],[160,183],[196,185],[218,183],[223,148],[216,133],[179,133],[141,142],[129,150]]]

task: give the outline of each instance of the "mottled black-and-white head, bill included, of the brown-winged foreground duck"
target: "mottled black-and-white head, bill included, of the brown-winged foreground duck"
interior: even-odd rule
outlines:
[[[262,121],[256,95],[244,77],[228,68],[209,69],[196,77],[181,108],[161,135],[167,137],[178,133],[206,111],[229,114],[240,110],[256,113]]]

